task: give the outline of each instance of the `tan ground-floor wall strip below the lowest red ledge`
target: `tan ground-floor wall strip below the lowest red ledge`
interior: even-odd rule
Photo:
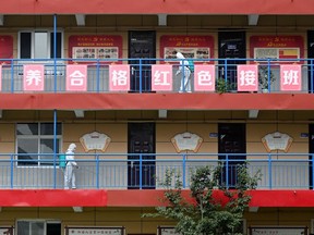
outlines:
[[[5,209],[1,212],[0,226],[15,227],[16,220],[44,220],[61,222],[62,227],[81,226],[124,226],[125,234],[157,234],[158,226],[173,226],[173,221],[143,219],[143,213],[153,208],[84,208],[84,212],[74,213],[71,208],[25,208]],[[19,213],[19,217],[16,217]],[[5,219],[4,219],[5,218]],[[293,208],[263,208],[258,212],[245,213],[246,227],[251,226],[307,226],[313,231],[313,210]],[[62,230],[64,232],[64,230]]]

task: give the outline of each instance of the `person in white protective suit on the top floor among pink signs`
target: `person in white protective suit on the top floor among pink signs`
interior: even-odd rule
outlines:
[[[191,92],[191,71],[189,69],[189,61],[185,60],[181,52],[177,52],[177,58],[180,59],[180,65],[176,76],[181,74],[181,85],[179,92]]]

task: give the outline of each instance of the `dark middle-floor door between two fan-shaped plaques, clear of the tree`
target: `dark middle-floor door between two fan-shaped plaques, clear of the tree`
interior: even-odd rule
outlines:
[[[154,189],[155,123],[129,123],[128,129],[128,188]]]

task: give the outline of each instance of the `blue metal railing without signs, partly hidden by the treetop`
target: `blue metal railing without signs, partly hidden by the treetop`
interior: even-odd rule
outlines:
[[[0,156],[0,188],[63,188],[64,170],[52,153],[45,154],[45,160],[22,156]],[[47,160],[49,156],[51,159]],[[80,165],[76,184],[85,189],[162,188],[160,182],[167,170],[180,174],[183,188],[189,188],[193,170],[203,165],[215,168],[219,162],[224,164],[220,181],[227,187],[237,184],[237,168],[242,163],[250,174],[262,173],[258,189],[313,189],[314,183],[313,156],[307,153],[77,153],[75,158]]]

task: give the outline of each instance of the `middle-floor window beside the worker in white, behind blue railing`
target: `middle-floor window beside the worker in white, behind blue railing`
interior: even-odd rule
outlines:
[[[17,123],[17,165],[52,165],[53,137],[53,123]],[[57,123],[56,137],[56,152],[59,153],[62,137],[61,123]]]

